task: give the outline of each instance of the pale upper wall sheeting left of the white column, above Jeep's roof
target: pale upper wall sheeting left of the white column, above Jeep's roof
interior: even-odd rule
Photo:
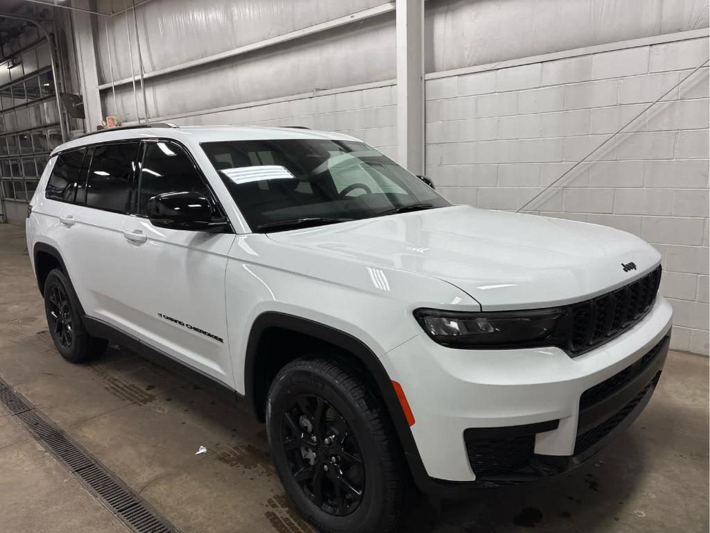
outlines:
[[[138,8],[138,38],[146,71],[182,65],[266,38],[346,16],[381,2],[308,0],[192,2],[155,0]],[[99,24],[99,75],[111,81],[131,76],[126,16],[138,72],[133,14]],[[393,14],[335,28],[281,45],[146,81],[150,117],[172,117],[254,100],[327,90],[395,76]],[[110,44],[107,44],[110,43]],[[113,112],[112,92],[103,105]],[[124,121],[136,120],[133,89],[116,90]],[[143,113],[143,108],[139,108]],[[141,115],[142,116],[142,115]]]

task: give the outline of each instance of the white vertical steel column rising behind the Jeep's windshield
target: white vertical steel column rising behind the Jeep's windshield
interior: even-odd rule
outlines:
[[[397,0],[397,159],[424,173],[424,0]]]

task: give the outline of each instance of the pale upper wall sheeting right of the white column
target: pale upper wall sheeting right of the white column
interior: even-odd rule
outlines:
[[[426,71],[708,26],[702,0],[427,1]]]

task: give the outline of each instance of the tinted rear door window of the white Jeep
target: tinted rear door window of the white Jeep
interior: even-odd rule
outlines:
[[[90,208],[126,212],[137,152],[138,143],[94,147],[87,180],[87,205]]]

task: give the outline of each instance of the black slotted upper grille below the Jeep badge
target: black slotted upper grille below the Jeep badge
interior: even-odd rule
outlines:
[[[568,307],[572,319],[569,352],[572,357],[618,335],[648,313],[655,301],[661,267],[621,289]]]

